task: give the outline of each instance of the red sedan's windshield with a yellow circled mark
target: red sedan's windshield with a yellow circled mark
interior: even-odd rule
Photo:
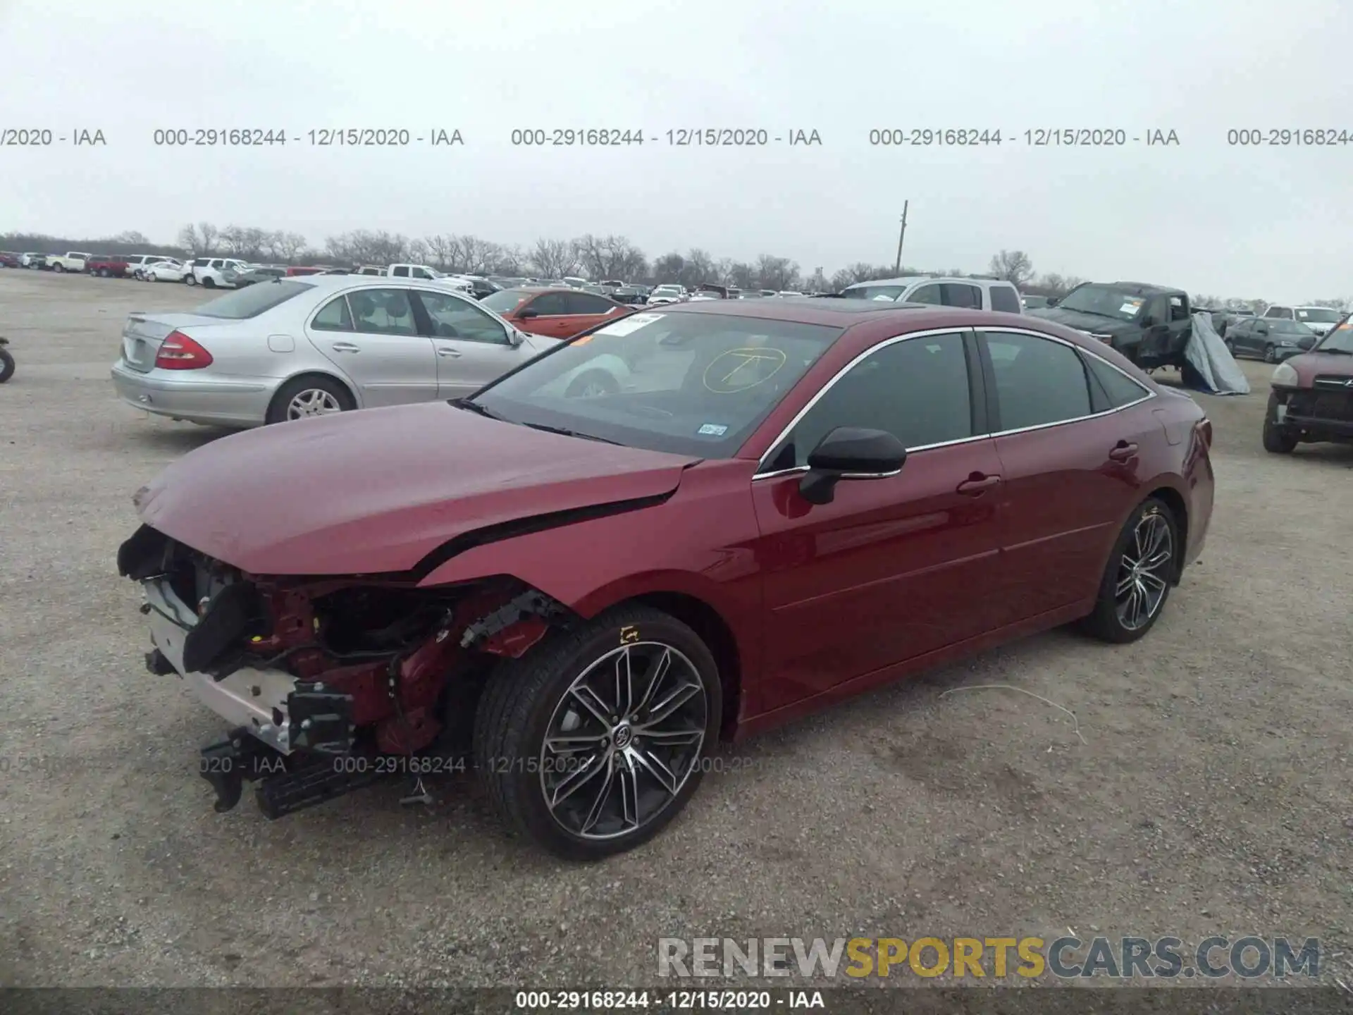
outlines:
[[[732,457],[843,329],[632,314],[472,398],[491,415],[636,448]]]

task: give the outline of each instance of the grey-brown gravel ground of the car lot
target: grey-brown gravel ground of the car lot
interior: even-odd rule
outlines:
[[[467,780],[430,808],[211,811],[222,725],[143,669],[114,555],[131,491],[219,432],[108,380],[127,311],[200,298],[0,272],[0,983],[653,985],[659,937],[1353,939],[1353,448],[1265,455],[1270,368],[1201,399],[1212,531],[1145,640],[1058,631],[869,694],[731,750],[744,769],[649,846],[568,866]],[[1086,743],[1023,694],[940,698],[993,682]]]

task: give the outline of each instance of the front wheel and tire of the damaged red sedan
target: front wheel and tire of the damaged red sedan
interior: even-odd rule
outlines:
[[[721,704],[694,631],[620,606],[499,664],[475,713],[476,769],[509,834],[602,859],[648,842],[695,793]]]

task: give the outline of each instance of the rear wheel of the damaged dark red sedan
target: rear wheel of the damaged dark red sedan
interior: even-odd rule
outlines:
[[[1169,506],[1149,497],[1119,533],[1085,631],[1103,641],[1135,641],[1165,609],[1180,568],[1178,524]]]

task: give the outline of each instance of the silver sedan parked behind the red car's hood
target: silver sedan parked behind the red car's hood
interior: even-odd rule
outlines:
[[[112,383],[149,413],[258,426],[460,398],[557,344],[436,280],[307,275],[130,314]]]

